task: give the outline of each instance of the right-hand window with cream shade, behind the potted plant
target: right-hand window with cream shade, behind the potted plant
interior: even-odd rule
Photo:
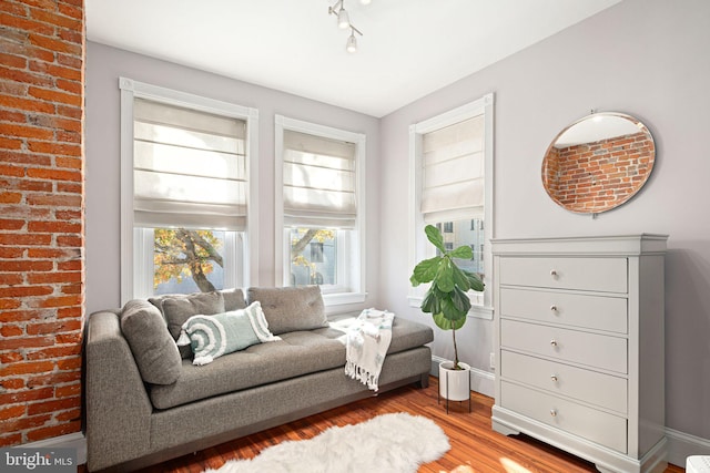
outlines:
[[[410,267],[433,256],[427,224],[443,228],[446,248],[468,245],[470,260],[460,267],[478,273],[486,290],[471,291],[471,312],[491,319],[489,240],[493,237],[493,94],[409,127]],[[412,288],[419,307],[426,288]]]

